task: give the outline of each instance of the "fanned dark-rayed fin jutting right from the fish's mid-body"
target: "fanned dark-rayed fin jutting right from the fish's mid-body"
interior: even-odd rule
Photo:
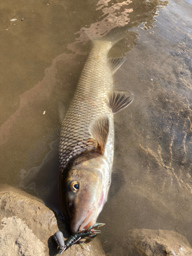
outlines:
[[[126,108],[133,100],[134,95],[129,91],[113,90],[109,94],[110,106],[114,114]]]

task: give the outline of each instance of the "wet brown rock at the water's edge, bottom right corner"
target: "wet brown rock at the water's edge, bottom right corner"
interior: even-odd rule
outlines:
[[[181,234],[170,230],[132,229],[127,232],[129,255],[192,255],[192,248]]]

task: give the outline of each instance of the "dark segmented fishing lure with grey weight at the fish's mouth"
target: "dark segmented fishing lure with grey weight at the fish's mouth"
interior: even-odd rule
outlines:
[[[93,226],[90,226],[87,229],[81,229],[76,234],[73,234],[70,236],[65,242],[63,238],[63,234],[61,231],[57,231],[54,234],[55,242],[57,243],[60,251],[59,254],[63,253],[63,251],[66,251],[71,245],[76,244],[81,239],[92,239],[97,236],[101,231],[95,228],[99,228],[105,225],[104,223],[96,223]],[[80,244],[80,243],[79,243]],[[83,246],[80,244],[80,246],[83,248]]]

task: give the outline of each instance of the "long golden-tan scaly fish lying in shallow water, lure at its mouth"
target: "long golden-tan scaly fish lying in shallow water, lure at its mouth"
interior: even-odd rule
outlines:
[[[112,76],[125,61],[108,58],[114,42],[92,44],[60,131],[60,202],[72,233],[93,226],[108,199],[113,116],[134,99],[129,91],[113,90]]]

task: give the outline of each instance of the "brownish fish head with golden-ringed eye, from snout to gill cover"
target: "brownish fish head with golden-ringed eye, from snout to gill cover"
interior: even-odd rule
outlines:
[[[94,158],[69,170],[65,179],[65,201],[72,233],[96,223],[106,202],[105,169],[105,162]]]

